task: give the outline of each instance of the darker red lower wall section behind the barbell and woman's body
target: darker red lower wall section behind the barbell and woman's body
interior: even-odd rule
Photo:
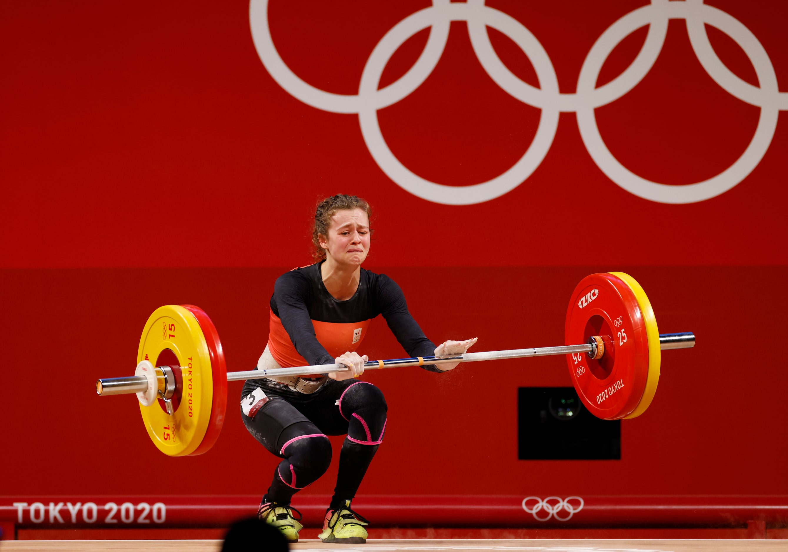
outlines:
[[[574,284],[607,267],[381,269],[403,287],[434,340],[478,336],[479,350],[563,343]],[[788,332],[785,268],[628,267],[660,331],[697,334],[692,350],[663,353],[649,410],[622,422],[620,461],[518,461],[517,387],[568,386],[563,358],[467,365],[437,375],[392,369],[364,376],[385,392],[385,443],[366,494],[786,494],[782,369]],[[125,474],[147,467],[184,477],[176,493],[265,491],[277,458],[240,420],[229,384],[225,428],[199,457],[167,458],[143,428],[133,396],[99,398],[97,377],[131,374],[139,332],[159,305],[195,302],[216,324],[230,370],[251,369],[267,334],[281,269],[79,269],[3,273],[6,495],[134,494]],[[449,298],[449,299],[447,299]],[[457,299],[451,299],[457,298]],[[377,319],[371,358],[400,346]],[[340,438],[334,438],[336,444]],[[332,471],[307,491],[333,490]],[[241,475],[255,469],[258,476]],[[258,471],[262,470],[262,471]],[[10,474],[14,473],[14,476]]]

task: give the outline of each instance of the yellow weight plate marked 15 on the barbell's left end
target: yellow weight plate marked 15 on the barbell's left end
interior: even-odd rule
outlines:
[[[182,306],[162,306],[148,318],[139,339],[137,362],[157,365],[162,351],[172,351],[183,375],[180,403],[172,416],[155,401],[139,405],[145,428],[154,445],[169,456],[186,456],[203,442],[210,422],[213,378],[210,353],[203,330],[195,316]],[[162,362],[169,365],[170,362]]]

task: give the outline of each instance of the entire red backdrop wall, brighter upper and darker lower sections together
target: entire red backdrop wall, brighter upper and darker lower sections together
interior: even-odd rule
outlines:
[[[709,3],[753,32],[788,90],[786,5]],[[533,32],[559,90],[571,94],[597,38],[645,2],[489,4]],[[428,5],[273,0],[270,28],[299,77],[355,94],[381,37]],[[724,64],[760,86],[736,42],[707,28]],[[536,85],[515,44],[490,34],[511,71]],[[630,65],[645,36],[641,28],[623,40],[597,86]],[[384,85],[407,71],[426,39],[422,31],[397,51]],[[517,387],[569,385],[563,358],[469,365],[444,376],[370,374],[385,391],[390,422],[362,492],[788,493],[788,376],[779,350],[788,330],[780,310],[788,276],[785,92],[764,100],[781,109],[764,157],[708,200],[668,204],[626,191],[593,161],[567,111],[544,161],[518,187],[450,206],[389,178],[357,115],[315,109],[269,75],[247,2],[6,2],[0,51],[0,494],[133,494],[136,480],[123,475],[147,466],[182,474],[184,494],[264,491],[275,459],[240,422],[240,383],[230,384],[217,445],[195,458],[163,457],[136,399],[97,398],[93,383],[132,372],[147,316],[168,303],[206,309],[229,369],[250,369],[266,343],[273,281],[307,264],[314,202],[337,192],[373,204],[368,268],[400,283],[433,340],[478,335],[479,350],[563,343],[574,285],[608,270],[640,281],[661,331],[697,334],[695,349],[663,355],[649,411],[623,421],[621,461],[517,460]],[[644,79],[596,114],[623,165],[678,186],[734,163],[760,108],[708,76],[686,24],[674,19]],[[462,21],[451,24],[422,86],[378,112],[403,165],[452,186],[507,170],[540,117],[487,76]],[[372,330],[362,352],[400,354],[381,320]],[[238,475],[251,467],[262,475]],[[305,492],[329,493],[334,470],[336,458]]]

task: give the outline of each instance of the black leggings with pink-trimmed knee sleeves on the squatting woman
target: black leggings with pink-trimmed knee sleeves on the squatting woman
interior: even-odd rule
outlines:
[[[359,489],[386,427],[386,402],[372,383],[328,380],[306,395],[271,380],[247,380],[242,401],[257,387],[269,401],[241,418],[247,430],[283,460],[273,474],[264,502],[289,504],[292,495],[329,469],[331,443],[326,435],[344,435],[332,505],[351,500]]]

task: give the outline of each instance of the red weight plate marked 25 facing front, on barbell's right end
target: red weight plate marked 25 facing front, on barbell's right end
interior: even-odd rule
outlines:
[[[637,298],[618,276],[600,272],[574,288],[565,336],[567,345],[604,340],[604,356],[567,354],[569,374],[586,408],[604,420],[619,420],[637,407],[649,376],[649,339]]]

